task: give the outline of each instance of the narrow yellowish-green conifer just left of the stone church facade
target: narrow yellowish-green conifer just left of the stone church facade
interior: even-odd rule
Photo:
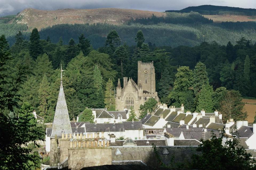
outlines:
[[[111,79],[106,83],[104,103],[108,111],[115,111],[114,85]]]

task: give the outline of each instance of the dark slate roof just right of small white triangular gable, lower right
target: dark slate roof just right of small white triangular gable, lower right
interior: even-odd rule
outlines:
[[[201,138],[204,140],[211,138],[211,131],[184,131],[182,132],[185,139],[197,139],[200,141]],[[213,131],[217,137],[219,137],[219,131]]]

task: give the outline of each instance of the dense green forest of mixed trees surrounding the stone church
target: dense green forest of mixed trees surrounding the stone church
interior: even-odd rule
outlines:
[[[176,107],[184,103],[185,109],[192,112],[217,109],[226,120],[223,102],[231,97],[235,119],[246,118],[242,96],[256,97],[256,45],[251,40],[241,38],[225,46],[202,42],[194,47],[172,48],[145,43],[147,38],[143,34],[137,31],[132,37],[135,46],[128,46],[121,44],[119,32],[111,30],[104,44],[94,50],[83,34],[74,37],[78,43],[71,38],[65,45],[62,37],[57,43],[52,43],[50,36],[40,39],[36,28],[29,41],[19,32],[10,48],[14,60],[8,63],[6,72],[16,75],[17,66],[26,68],[23,88],[18,93],[46,122],[53,120],[61,64],[72,119],[85,107],[113,109],[114,100],[109,103],[109,97],[113,96],[118,78],[132,77],[136,82],[139,60],[154,61],[156,90],[162,102]]]

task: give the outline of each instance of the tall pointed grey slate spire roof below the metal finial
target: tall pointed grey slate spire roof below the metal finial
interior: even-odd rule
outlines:
[[[55,135],[61,137],[62,131],[64,131],[64,133],[72,133],[69,112],[67,110],[67,103],[61,81],[50,137],[53,138]]]

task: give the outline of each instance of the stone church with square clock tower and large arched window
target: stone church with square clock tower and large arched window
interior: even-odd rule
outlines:
[[[137,84],[132,78],[123,77],[123,88],[120,79],[118,79],[117,92],[115,98],[115,109],[122,111],[123,109],[134,108],[139,117],[139,106],[145,101],[153,97],[159,101],[157,92],[155,91],[155,67],[154,62],[143,63],[138,61],[138,81]]]

